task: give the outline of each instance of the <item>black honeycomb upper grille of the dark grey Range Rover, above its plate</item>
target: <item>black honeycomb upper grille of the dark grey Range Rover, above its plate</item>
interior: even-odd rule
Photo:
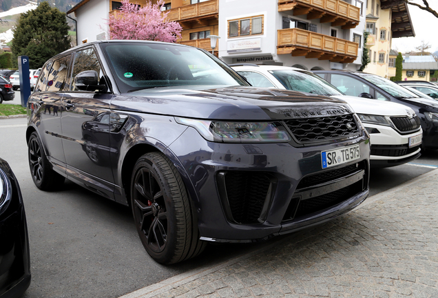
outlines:
[[[284,123],[300,143],[348,137],[359,133],[353,115],[290,119]]]

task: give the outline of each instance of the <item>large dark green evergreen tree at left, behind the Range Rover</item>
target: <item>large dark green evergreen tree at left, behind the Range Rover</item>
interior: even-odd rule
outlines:
[[[28,56],[32,69],[40,68],[45,61],[70,48],[70,37],[65,13],[42,2],[35,10],[21,14],[12,39],[12,54]]]

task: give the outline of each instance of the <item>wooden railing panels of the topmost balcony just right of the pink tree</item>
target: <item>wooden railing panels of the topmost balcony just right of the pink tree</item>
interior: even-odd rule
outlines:
[[[171,10],[167,11],[169,12],[169,14],[167,14],[167,19],[169,21],[202,22],[202,19],[208,19],[209,17],[218,19],[219,6],[218,0],[210,0],[201,3],[190,4],[187,6],[181,6],[178,8],[172,8]]]

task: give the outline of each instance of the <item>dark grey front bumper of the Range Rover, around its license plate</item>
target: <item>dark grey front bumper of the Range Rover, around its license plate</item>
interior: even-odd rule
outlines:
[[[322,169],[322,151],[353,144],[359,145],[359,159]],[[343,215],[368,195],[365,135],[295,148],[289,143],[212,143],[187,128],[167,150],[183,167],[202,240],[268,239]]]

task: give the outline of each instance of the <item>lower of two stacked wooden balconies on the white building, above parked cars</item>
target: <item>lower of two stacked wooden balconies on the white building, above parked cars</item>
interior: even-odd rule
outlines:
[[[331,62],[351,63],[358,43],[298,28],[278,30],[277,54],[292,54]]]

